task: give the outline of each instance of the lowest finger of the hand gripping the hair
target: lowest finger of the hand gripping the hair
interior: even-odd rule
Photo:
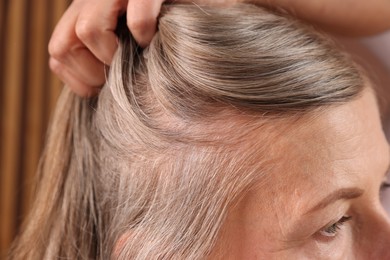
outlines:
[[[91,97],[99,93],[100,88],[91,87],[80,81],[70,71],[68,71],[60,61],[50,58],[49,66],[59,79],[77,95],[82,97]]]

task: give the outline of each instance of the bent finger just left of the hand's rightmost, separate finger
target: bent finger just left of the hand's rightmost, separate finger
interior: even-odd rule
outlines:
[[[115,29],[118,17],[126,11],[127,1],[89,1],[76,23],[76,35],[102,62],[111,64],[117,49]]]

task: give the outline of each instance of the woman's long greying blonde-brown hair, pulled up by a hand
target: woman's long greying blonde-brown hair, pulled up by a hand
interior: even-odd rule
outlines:
[[[205,258],[277,163],[272,127],[364,87],[327,37],[253,5],[165,6],[144,50],[118,34],[99,96],[60,97],[15,259]]]

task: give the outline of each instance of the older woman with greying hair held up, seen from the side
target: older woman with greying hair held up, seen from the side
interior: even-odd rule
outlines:
[[[390,258],[373,83],[328,37],[253,5],[117,32],[99,95],[61,96],[11,257]]]

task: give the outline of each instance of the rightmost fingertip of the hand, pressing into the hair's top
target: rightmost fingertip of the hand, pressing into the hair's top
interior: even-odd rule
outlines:
[[[157,30],[157,17],[164,0],[129,0],[127,5],[127,25],[135,40],[146,47]]]

